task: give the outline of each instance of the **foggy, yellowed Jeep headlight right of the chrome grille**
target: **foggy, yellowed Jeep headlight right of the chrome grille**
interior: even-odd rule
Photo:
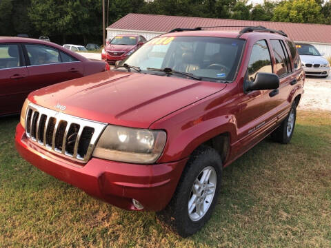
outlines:
[[[108,125],[93,156],[128,163],[154,163],[161,156],[166,139],[161,130]]]

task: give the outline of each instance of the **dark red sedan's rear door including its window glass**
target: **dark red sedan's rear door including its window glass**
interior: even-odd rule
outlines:
[[[25,44],[30,91],[83,76],[83,62],[49,45]]]

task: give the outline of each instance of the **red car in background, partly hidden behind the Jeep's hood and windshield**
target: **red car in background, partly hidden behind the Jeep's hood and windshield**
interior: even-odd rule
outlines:
[[[123,61],[146,42],[137,34],[119,34],[107,43],[101,52],[101,59],[108,63]]]

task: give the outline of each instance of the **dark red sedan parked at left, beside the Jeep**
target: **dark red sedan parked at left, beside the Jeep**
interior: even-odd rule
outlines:
[[[34,90],[109,69],[54,43],[0,37],[0,116],[18,113]]]

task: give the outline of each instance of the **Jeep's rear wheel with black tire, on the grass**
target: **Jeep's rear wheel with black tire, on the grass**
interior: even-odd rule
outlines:
[[[290,140],[294,132],[296,119],[297,119],[297,105],[295,103],[292,103],[292,107],[290,112],[288,113],[288,116],[281,123],[281,125],[277,127],[277,130],[274,130],[274,132],[272,132],[271,138],[274,141],[277,141],[282,144],[290,143]]]

